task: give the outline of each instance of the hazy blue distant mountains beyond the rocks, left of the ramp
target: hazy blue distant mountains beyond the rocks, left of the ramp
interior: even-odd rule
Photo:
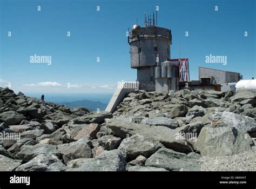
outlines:
[[[92,100],[77,100],[73,102],[64,102],[64,103],[56,103],[59,105],[66,105],[71,108],[74,107],[86,107],[90,112],[95,111],[97,109],[99,110],[105,110],[107,104],[99,102],[99,101],[92,101]]]

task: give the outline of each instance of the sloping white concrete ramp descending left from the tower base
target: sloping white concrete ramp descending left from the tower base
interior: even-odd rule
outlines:
[[[116,91],[114,91],[114,94],[113,94],[109,104],[107,105],[105,111],[113,113],[113,111],[120,104],[120,102],[122,102],[122,100],[128,93],[137,92],[138,90],[136,90],[136,87],[127,87],[127,86],[132,86],[132,85],[134,85],[134,83],[126,82],[122,85],[122,87],[117,87],[117,89],[116,89]],[[137,89],[138,89],[138,87],[137,87]]]

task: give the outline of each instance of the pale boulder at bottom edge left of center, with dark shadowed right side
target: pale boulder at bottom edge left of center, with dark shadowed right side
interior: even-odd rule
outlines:
[[[82,165],[68,171],[125,171],[126,161],[119,150],[104,151],[96,158],[83,159]]]

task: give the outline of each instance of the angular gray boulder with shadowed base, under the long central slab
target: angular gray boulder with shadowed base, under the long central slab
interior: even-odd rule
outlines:
[[[126,138],[122,141],[118,150],[120,150],[126,159],[133,160],[139,155],[146,158],[160,149],[161,144],[159,141],[153,141],[150,138],[146,138],[141,134],[134,134],[133,136]]]

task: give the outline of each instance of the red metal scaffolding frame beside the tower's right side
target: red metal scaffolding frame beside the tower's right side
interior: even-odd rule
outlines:
[[[180,82],[190,81],[190,68],[188,66],[188,58],[168,59],[174,65],[179,66],[179,80]]]

